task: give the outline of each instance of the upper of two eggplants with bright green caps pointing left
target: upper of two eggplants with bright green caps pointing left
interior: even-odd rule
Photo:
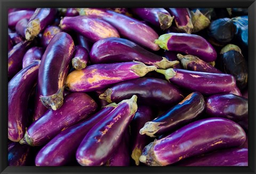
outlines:
[[[217,59],[217,53],[212,45],[196,34],[167,33],[156,39],[155,43],[165,50],[194,55],[205,62]]]

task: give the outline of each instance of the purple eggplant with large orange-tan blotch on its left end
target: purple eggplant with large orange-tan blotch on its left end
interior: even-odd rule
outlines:
[[[154,70],[155,66],[146,66],[141,62],[94,64],[68,74],[65,86],[73,92],[91,92],[125,80],[137,79]]]

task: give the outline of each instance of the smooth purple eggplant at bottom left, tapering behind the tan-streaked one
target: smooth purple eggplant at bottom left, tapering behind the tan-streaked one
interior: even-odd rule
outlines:
[[[35,159],[36,166],[64,166],[67,164],[70,158],[76,154],[76,150],[87,132],[114,108],[114,106],[106,106],[81,123],[59,133],[38,152]]]

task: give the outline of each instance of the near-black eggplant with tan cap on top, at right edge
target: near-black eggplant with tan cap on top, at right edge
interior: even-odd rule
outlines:
[[[221,49],[220,60],[223,72],[234,75],[238,88],[243,90],[248,83],[248,66],[241,49],[233,44],[226,45]]]

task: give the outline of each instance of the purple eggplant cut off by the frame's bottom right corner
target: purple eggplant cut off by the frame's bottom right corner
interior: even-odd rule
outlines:
[[[248,166],[248,149],[232,148],[195,156],[178,166]]]

